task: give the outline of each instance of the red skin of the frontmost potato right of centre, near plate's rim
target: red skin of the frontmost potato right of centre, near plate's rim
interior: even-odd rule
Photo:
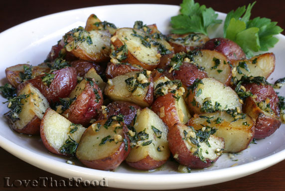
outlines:
[[[191,153],[187,146],[185,145],[180,132],[179,132],[179,124],[175,124],[173,127],[171,127],[167,134],[167,140],[168,140],[168,146],[169,149],[174,156],[176,153],[178,154],[177,159],[175,160],[184,166],[187,166],[192,169],[203,169],[210,167],[214,161],[211,161],[209,159],[206,159],[205,162],[201,161],[199,157],[193,155]]]

